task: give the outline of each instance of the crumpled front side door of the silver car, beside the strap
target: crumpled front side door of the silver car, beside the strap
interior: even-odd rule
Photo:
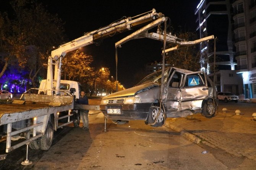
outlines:
[[[173,109],[179,110],[180,106],[180,98],[181,91],[180,87],[182,85],[182,79],[185,74],[182,74],[177,71],[173,71],[170,73],[170,79],[167,82],[167,96],[166,96],[166,106],[167,112],[172,112]]]

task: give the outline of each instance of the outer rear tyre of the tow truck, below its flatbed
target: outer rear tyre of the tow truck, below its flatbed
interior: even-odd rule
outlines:
[[[44,135],[37,139],[39,149],[48,150],[52,145],[52,140],[53,140],[52,123],[48,122]]]

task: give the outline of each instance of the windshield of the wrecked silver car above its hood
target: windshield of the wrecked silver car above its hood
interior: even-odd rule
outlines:
[[[164,82],[165,83],[166,83],[166,80],[167,80],[168,71],[169,71],[169,68],[165,68],[165,71],[164,71]],[[156,71],[152,74],[147,75],[143,80],[141,80],[135,86],[143,85],[143,84],[146,84],[146,83],[149,83],[149,82],[155,82],[155,83],[158,83],[160,85],[161,84],[161,77],[162,77],[162,70]]]

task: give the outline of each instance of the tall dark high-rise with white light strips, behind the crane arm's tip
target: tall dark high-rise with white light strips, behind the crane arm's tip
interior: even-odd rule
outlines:
[[[195,9],[197,15],[196,30],[199,37],[209,35],[217,37],[215,47],[214,74],[214,41],[200,44],[201,67],[213,80],[218,91],[230,91],[244,95],[243,79],[237,74],[237,59],[233,38],[233,8],[230,0],[200,0]],[[241,53],[242,54],[242,53]]]

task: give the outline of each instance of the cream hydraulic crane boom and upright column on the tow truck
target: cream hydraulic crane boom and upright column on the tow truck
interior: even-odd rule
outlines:
[[[47,82],[46,88],[49,90],[54,89],[53,87],[53,64],[55,65],[55,74],[54,79],[56,80],[56,94],[58,94],[60,86],[60,77],[61,77],[61,65],[62,59],[65,57],[66,53],[77,50],[80,47],[84,47],[95,43],[96,40],[102,40],[107,37],[111,37],[114,34],[130,30],[133,27],[141,26],[148,22],[152,22],[157,18],[163,17],[162,13],[157,13],[155,9],[139,14],[134,17],[128,17],[126,19],[121,19],[118,22],[113,22],[109,26],[87,32],[82,37],[76,38],[68,43],[60,45],[56,50],[53,50],[51,56],[48,58],[48,67],[47,67]],[[53,61],[55,61],[53,63]],[[47,91],[47,95],[53,95],[53,91]]]

